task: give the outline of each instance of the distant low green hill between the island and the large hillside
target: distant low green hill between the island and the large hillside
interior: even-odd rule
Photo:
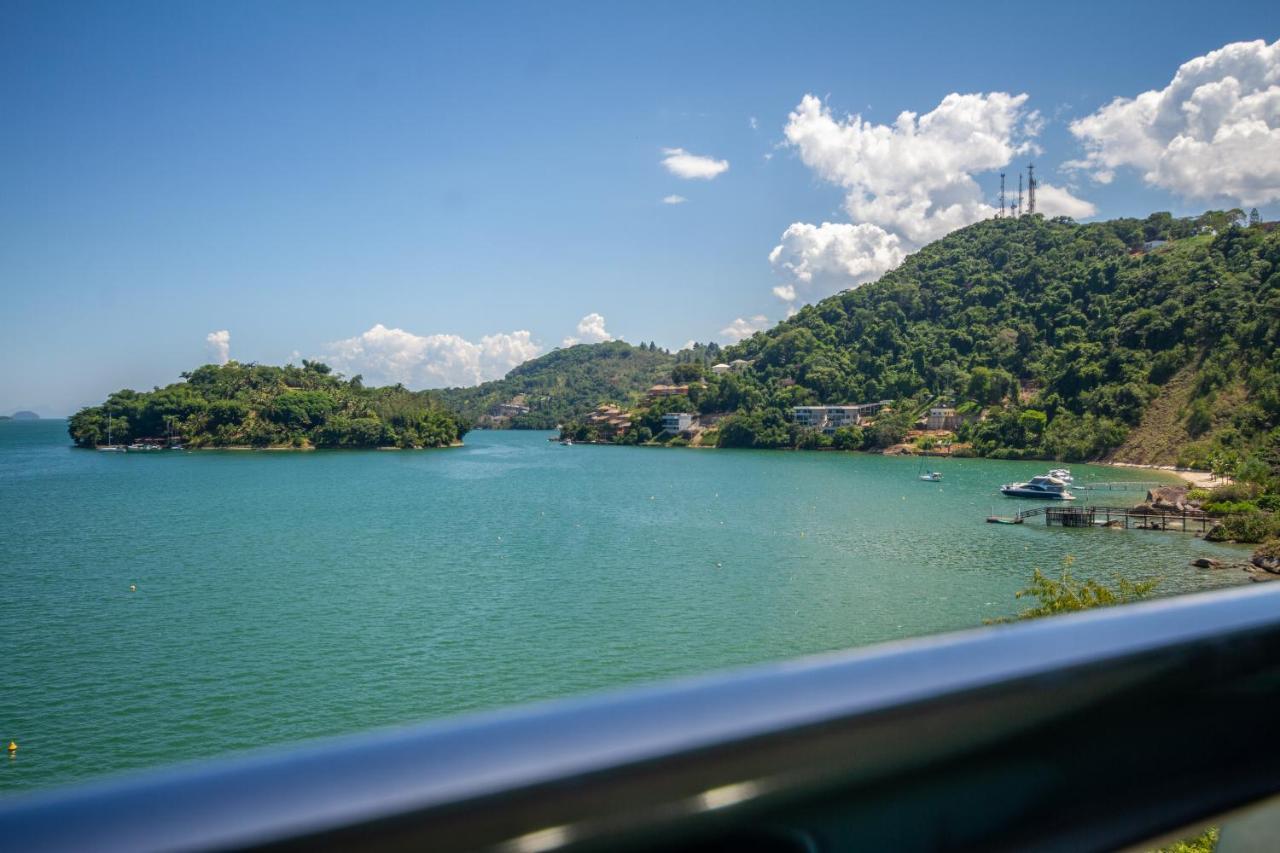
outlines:
[[[509,426],[554,429],[600,402],[630,403],[650,386],[667,382],[675,364],[676,356],[653,343],[580,343],[526,361],[502,379],[447,388],[438,397],[472,421],[498,403],[521,398],[530,411],[512,418]]]

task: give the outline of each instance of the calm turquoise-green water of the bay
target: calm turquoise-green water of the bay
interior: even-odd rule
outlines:
[[[970,628],[1068,555],[1162,593],[1244,578],[1188,535],[984,524],[1043,464],[937,467],[545,433],[116,455],[0,421],[0,792]]]

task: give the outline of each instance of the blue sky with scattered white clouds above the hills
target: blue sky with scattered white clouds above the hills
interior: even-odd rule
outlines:
[[[1280,218],[1280,13],[0,0],[0,414],[728,343],[995,214]]]

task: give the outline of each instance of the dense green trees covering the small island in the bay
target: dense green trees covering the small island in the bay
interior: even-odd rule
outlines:
[[[81,447],[175,435],[188,447],[445,447],[467,426],[426,392],[366,388],[328,365],[205,365],[150,392],[118,391],[82,409],[68,430]]]

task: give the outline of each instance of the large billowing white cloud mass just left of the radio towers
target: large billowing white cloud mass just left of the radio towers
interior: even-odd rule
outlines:
[[[774,296],[792,304],[872,282],[924,243],[995,215],[975,174],[1037,152],[1043,127],[1027,95],[951,93],[924,115],[892,124],[837,118],[805,95],[788,117],[787,145],[818,177],[845,190],[852,223],[794,223],[769,252],[787,280]],[[1042,184],[1044,186],[1044,184]],[[1050,187],[1051,215],[1088,202]],[[1084,214],[1074,214],[1084,215]]]

